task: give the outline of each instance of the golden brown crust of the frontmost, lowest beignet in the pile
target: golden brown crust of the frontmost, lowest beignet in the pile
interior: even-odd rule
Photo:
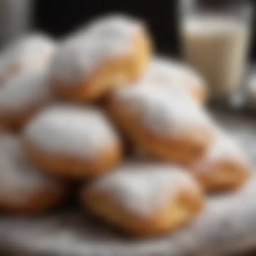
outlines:
[[[84,188],[81,201],[90,212],[133,236],[164,234],[190,222],[203,208],[204,197],[199,189],[188,188],[177,194],[164,209],[151,216],[129,212],[106,193]]]

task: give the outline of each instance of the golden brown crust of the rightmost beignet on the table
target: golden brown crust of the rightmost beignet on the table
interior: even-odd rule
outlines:
[[[192,167],[192,173],[207,192],[240,188],[250,176],[249,165],[239,159],[202,160]]]

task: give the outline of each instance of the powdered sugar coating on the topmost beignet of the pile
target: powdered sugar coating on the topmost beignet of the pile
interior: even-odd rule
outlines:
[[[99,65],[127,54],[141,25],[126,16],[106,16],[92,21],[60,46],[53,60],[53,77],[76,82]]]

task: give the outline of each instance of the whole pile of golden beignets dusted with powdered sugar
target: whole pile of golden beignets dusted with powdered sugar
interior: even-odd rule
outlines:
[[[30,34],[0,56],[0,210],[38,214],[85,182],[81,205],[130,235],[171,232],[205,194],[250,176],[203,105],[204,79],[154,56],[143,22],[92,20],[61,42]]]

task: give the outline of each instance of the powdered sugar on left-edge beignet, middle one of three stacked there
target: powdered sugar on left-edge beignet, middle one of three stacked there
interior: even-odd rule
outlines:
[[[0,88],[0,113],[26,111],[50,97],[48,71],[26,71],[10,78]]]

